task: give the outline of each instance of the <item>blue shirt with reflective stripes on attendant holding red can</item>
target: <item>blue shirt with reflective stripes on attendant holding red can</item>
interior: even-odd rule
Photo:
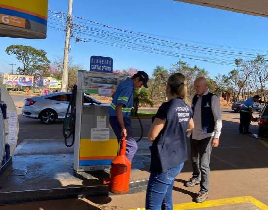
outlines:
[[[110,116],[116,116],[116,105],[124,104],[122,107],[123,117],[129,117],[131,108],[133,106],[133,92],[134,92],[134,84],[130,78],[127,78],[125,81],[122,81],[118,87],[116,92],[114,93],[113,101],[109,108]]]

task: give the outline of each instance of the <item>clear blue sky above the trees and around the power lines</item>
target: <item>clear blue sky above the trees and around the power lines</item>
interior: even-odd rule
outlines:
[[[49,0],[49,9],[67,13],[68,0]],[[172,41],[208,46],[205,42],[239,48],[268,51],[268,19],[224,10],[207,8],[172,0],[73,0],[73,15],[95,20],[117,28],[136,32],[174,37]],[[50,23],[48,23],[50,25]],[[171,40],[170,38],[164,38]],[[0,72],[9,73],[10,63],[21,66],[14,56],[6,55],[11,44],[30,45],[47,52],[50,61],[63,56],[65,32],[48,28],[44,40],[0,37]],[[75,42],[71,39],[74,64],[89,70],[90,56],[100,55],[114,59],[114,69],[134,67],[150,75],[157,65],[165,68],[177,63],[179,58],[134,50],[105,46],[92,42]],[[216,46],[210,46],[216,47]],[[220,48],[220,47],[218,47]],[[247,50],[244,50],[247,51]],[[248,50],[249,51],[249,50]],[[267,53],[268,54],[268,53]],[[218,73],[228,73],[233,66],[182,59],[191,66],[205,68],[214,78]]]

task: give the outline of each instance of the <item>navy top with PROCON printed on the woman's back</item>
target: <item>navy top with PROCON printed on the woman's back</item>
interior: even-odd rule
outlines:
[[[192,109],[182,98],[159,107],[155,117],[166,120],[166,124],[150,146],[150,171],[166,172],[187,160],[186,130],[192,115]]]

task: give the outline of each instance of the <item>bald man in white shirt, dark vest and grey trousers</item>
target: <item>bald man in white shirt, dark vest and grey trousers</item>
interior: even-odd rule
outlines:
[[[193,176],[185,186],[200,184],[200,191],[194,200],[201,203],[208,198],[210,154],[212,148],[219,145],[222,121],[219,99],[208,92],[207,80],[197,78],[194,88],[196,95],[192,100],[192,109],[195,128],[191,136]]]

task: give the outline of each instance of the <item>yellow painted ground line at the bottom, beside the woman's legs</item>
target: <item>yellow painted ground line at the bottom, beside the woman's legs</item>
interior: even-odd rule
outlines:
[[[257,206],[261,210],[268,210],[268,206],[264,203],[258,201],[257,199],[251,196],[243,196],[243,197],[234,197],[234,198],[225,198],[218,200],[208,200],[203,203],[182,203],[182,204],[174,204],[173,210],[190,210],[190,209],[202,209],[208,207],[216,207],[216,206],[225,206],[239,203],[252,203]],[[137,210],[137,209],[130,209]],[[145,210],[145,208],[140,208],[140,210]]]

